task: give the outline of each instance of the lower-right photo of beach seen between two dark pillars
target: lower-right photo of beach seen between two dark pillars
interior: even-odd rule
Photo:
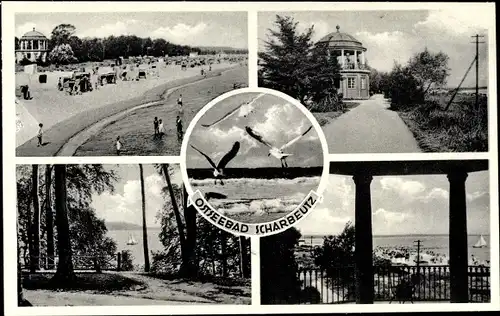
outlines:
[[[331,162],[314,212],[261,238],[261,303],[490,302],[488,169]]]

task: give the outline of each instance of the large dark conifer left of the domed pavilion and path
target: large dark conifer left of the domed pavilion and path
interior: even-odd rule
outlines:
[[[277,15],[278,30],[269,29],[265,51],[259,54],[259,85],[284,92],[302,103],[318,103],[336,95],[334,80],[340,67],[328,56],[328,47],[315,46],[311,40],[313,27],[304,33],[298,22]]]

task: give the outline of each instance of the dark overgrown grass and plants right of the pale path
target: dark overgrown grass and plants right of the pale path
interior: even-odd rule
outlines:
[[[449,109],[450,94],[430,95],[423,104],[395,109],[424,152],[488,151],[487,97],[458,94]]]

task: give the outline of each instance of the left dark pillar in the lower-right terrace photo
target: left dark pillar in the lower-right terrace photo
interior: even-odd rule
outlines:
[[[356,304],[373,304],[372,205],[369,174],[356,174],[355,249]]]

